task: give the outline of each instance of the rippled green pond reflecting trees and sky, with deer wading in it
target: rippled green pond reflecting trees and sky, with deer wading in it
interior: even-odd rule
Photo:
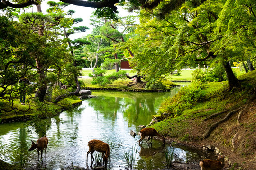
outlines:
[[[138,125],[147,125],[152,115],[168,97],[172,97],[179,88],[170,92],[143,93],[119,91],[92,91],[97,96],[83,100],[79,107],[64,111],[59,115],[61,122],[51,121],[50,129],[46,131],[49,139],[47,154],[43,154],[43,163],[37,164],[37,151],[27,150],[31,140],[37,141],[36,133],[27,133],[23,123],[0,125],[0,159],[17,163],[22,155],[27,161],[27,169],[33,167],[47,170],[60,170],[73,165],[86,167],[86,152],[88,141],[99,139],[114,145],[110,154],[108,168],[119,170],[127,167],[125,153],[134,150],[136,154],[136,169],[165,168],[165,152],[174,151],[174,160],[190,162],[200,160],[204,153],[189,148],[179,148],[173,145],[163,145],[161,141],[153,140],[148,146],[146,141],[138,145],[140,136],[132,137],[129,132],[138,133]],[[21,151],[21,152],[20,152]],[[95,152],[97,153],[97,152]],[[95,155],[94,153],[94,155]],[[26,157],[27,156],[27,157]],[[95,157],[95,156],[94,156]],[[94,161],[95,162],[95,161]],[[91,155],[88,155],[88,165]]]

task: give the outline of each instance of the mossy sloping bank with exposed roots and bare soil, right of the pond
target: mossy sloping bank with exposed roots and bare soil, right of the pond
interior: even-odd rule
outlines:
[[[228,82],[213,82],[201,89],[201,100],[186,105],[178,114],[171,114],[182,108],[173,102],[183,100],[166,100],[159,112],[170,111],[171,117],[150,127],[161,134],[185,143],[210,144],[219,147],[229,160],[236,162],[234,170],[256,169],[256,70],[238,77],[240,88],[228,91]],[[193,89],[192,89],[193,90]],[[189,92],[188,92],[189,93]],[[179,96],[179,94],[177,95]],[[190,102],[189,100],[187,100]],[[208,128],[227,113],[239,107],[244,108],[235,112],[227,121],[219,124],[203,139]],[[176,110],[175,110],[176,109]],[[208,116],[228,110],[216,117],[204,120]],[[240,117],[238,116],[240,114]]]

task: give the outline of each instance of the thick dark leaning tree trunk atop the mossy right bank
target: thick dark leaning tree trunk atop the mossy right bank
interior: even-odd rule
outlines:
[[[238,79],[235,77],[233,70],[229,64],[229,61],[225,61],[223,63],[223,66],[225,68],[226,74],[227,74],[227,79],[229,82],[229,90],[232,90],[234,87],[239,87],[240,84],[238,82]]]

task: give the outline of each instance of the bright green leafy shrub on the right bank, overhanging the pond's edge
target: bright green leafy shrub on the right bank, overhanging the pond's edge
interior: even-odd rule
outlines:
[[[182,87],[181,90],[171,99],[167,99],[159,108],[160,113],[170,113],[172,117],[182,114],[185,109],[190,109],[197,102],[201,102],[205,94],[203,93],[203,83],[193,82],[192,85]]]

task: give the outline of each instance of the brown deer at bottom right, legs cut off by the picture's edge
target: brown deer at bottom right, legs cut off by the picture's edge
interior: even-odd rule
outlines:
[[[221,170],[225,166],[225,156],[219,155],[217,160],[204,159],[199,162],[201,170]]]

